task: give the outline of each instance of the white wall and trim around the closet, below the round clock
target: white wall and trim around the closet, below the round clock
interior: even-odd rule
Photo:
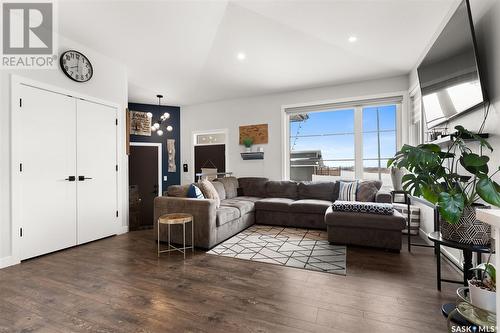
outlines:
[[[124,66],[83,45],[59,37],[59,52],[76,49],[86,54],[92,62],[94,76],[87,83],[68,79],[62,71],[54,70],[1,70],[0,71],[0,268],[15,263],[11,257],[11,209],[10,209],[10,77],[16,74],[69,91],[95,97],[119,107],[118,145],[119,155],[119,205],[121,230],[128,225],[128,159],[125,154],[125,108],[127,106],[127,72]],[[40,135],[47,129],[40,129]],[[63,138],[61,138],[63,139]],[[50,149],[50,147],[47,147]],[[50,190],[47,190],[50,195]],[[33,212],[36,214],[36,212]]]

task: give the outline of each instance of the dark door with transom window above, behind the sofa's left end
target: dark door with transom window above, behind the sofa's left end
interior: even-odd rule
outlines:
[[[194,181],[198,175],[210,174],[208,179],[226,172],[226,132],[213,131],[194,134]]]

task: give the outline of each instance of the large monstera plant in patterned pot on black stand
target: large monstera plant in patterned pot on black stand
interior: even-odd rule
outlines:
[[[487,140],[463,126],[455,129],[446,150],[436,144],[404,145],[387,166],[406,168],[410,173],[402,178],[404,190],[437,205],[443,238],[487,245],[491,229],[476,220],[476,208],[480,199],[500,207],[500,185],[492,180],[500,168],[489,174],[490,159],[482,154],[483,149],[493,151]],[[468,139],[480,144],[479,154],[467,146]]]

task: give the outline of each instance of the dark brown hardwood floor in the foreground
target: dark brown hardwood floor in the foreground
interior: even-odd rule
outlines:
[[[349,248],[347,276],[156,256],[144,230],[0,270],[0,332],[445,332],[432,249]],[[444,275],[459,278],[449,264]]]

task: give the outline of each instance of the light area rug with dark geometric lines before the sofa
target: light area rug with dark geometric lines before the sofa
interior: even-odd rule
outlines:
[[[253,225],[207,253],[346,275],[346,247],[323,230]]]

